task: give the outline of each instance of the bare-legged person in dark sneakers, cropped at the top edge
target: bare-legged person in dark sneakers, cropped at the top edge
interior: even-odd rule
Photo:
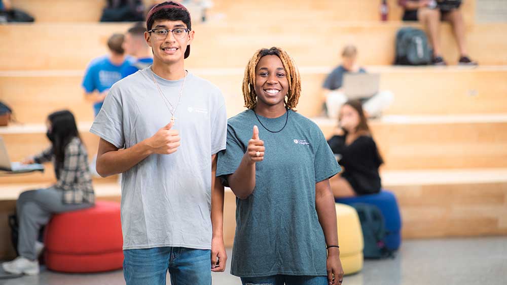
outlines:
[[[451,23],[454,37],[458,44],[459,60],[461,65],[477,65],[477,62],[471,60],[467,55],[465,40],[465,24],[459,6],[461,1],[456,0],[399,0],[400,6],[405,9],[403,14],[404,21],[419,21],[426,29],[429,42],[433,47],[434,65],[446,65],[442,57],[440,46],[440,21]]]

